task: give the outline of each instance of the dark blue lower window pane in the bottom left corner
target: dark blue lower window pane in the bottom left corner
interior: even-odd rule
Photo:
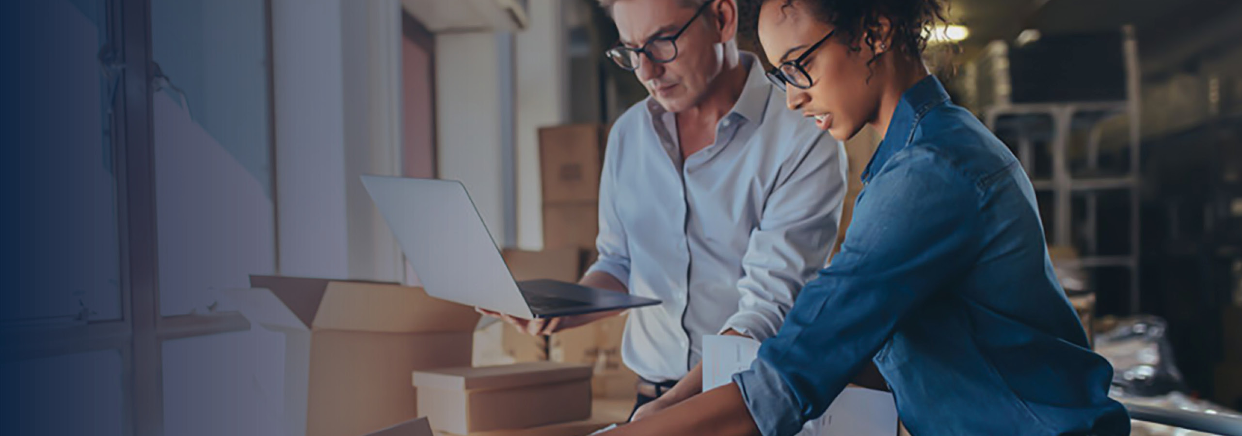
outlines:
[[[17,435],[122,435],[123,368],[119,350],[19,361]]]

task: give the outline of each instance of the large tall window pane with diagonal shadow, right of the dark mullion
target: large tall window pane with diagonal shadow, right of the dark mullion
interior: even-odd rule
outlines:
[[[272,273],[276,232],[263,0],[152,0],[160,313]]]

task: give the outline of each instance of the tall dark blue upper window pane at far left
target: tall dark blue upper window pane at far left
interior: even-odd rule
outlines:
[[[113,84],[98,61],[102,0],[5,2],[16,14],[17,304],[0,320],[120,318]]]

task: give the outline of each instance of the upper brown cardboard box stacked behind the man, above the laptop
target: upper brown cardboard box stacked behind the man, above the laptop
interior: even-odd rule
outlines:
[[[606,135],[602,124],[539,129],[544,204],[592,202],[599,199]]]

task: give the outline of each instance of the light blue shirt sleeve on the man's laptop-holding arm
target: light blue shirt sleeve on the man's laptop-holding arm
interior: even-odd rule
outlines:
[[[620,123],[617,123],[620,125]],[[626,288],[630,288],[630,250],[626,238],[625,226],[617,215],[616,198],[616,165],[620,159],[617,144],[620,143],[617,125],[609,132],[607,148],[604,152],[604,169],[600,173],[600,232],[595,237],[595,250],[599,257],[586,273],[595,271],[605,272],[616,277]]]

